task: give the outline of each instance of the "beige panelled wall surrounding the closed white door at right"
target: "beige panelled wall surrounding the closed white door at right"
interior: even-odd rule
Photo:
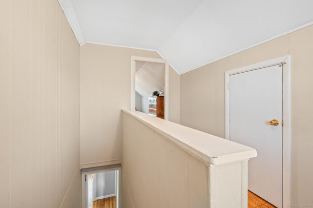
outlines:
[[[180,76],[180,124],[224,137],[224,71],[291,55],[291,205],[313,205],[313,25]]]

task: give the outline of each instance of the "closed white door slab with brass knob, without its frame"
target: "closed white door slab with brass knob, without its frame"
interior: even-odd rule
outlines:
[[[273,119],[279,125],[269,125]],[[229,139],[257,150],[248,162],[248,189],[278,208],[283,192],[281,123],[281,66],[229,76]]]

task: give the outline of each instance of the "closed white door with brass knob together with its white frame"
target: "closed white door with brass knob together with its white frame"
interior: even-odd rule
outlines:
[[[290,205],[289,65],[282,57],[225,72],[226,139],[256,148],[248,187],[277,207]]]

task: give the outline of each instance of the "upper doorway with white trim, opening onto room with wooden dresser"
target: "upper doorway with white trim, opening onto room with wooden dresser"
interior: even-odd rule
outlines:
[[[168,63],[132,56],[131,109],[168,120]]]

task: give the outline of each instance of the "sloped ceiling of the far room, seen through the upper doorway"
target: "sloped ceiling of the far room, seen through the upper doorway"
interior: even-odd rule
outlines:
[[[141,96],[164,90],[165,65],[156,62],[136,61],[135,90]]]

